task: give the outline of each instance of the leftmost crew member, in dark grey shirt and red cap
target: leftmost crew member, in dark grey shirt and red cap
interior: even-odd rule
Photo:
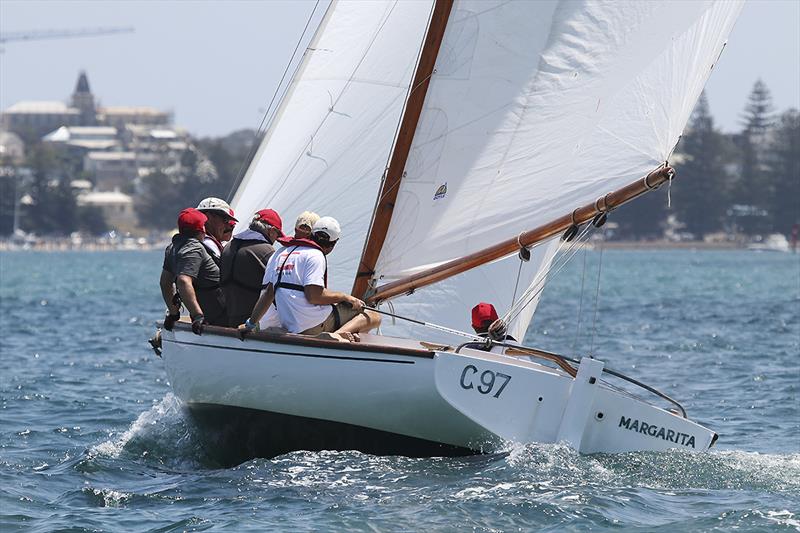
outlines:
[[[206,323],[226,325],[219,266],[202,244],[207,222],[208,217],[197,209],[184,209],[178,216],[178,233],[164,250],[160,284],[167,304],[164,327],[168,330],[180,318],[176,288],[192,319],[192,331],[200,335]]]

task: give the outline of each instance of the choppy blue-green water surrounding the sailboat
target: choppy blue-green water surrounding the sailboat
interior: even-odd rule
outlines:
[[[798,255],[587,252],[584,269],[579,253],[545,292],[529,341],[662,388],[720,434],[710,453],[509,444],[233,468],[146,345],[159,258],[0,254],[0,530],[800,531]]]

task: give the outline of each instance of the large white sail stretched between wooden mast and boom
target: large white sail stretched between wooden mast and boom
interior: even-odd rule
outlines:
[[[547,223],[663,163],[740,8],[456,1],[379,284]]]

